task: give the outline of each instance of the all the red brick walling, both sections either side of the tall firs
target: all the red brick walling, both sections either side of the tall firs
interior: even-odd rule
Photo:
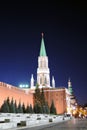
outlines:
[[[7,97],[10,98],[10,100],[13,98],[16,100],[17,104],[19,101],[21,104],[31,104],[32,107],[34,106],[34,96],[33,96],[34,91],[30,91],[26,93],[25,91],[2,83],[0,82],[0,106],[3,104],[3,101],[7,99]],[[48,102],[48,105],[51,106],[52,100],[54,101],[54,105],[56,107],[57,114],[62,114],[66,111],[66,93],[64,88],[60,89],[53,89],[53,88],[45,88],[44,89],[45,93],[45,98],[46,101]]]

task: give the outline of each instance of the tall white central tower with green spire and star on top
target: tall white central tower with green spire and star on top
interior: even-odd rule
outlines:
[[[42,87],[50,87],[50,71],[48,68],[48,57],[46,54],[43,33],[40,47],[40,55],[38,57],[37,83],[39,86]]]

